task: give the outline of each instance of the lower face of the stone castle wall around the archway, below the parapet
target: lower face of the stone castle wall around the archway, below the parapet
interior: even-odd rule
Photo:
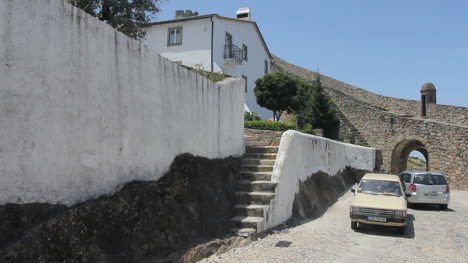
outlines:
[[[403,117],[362,105],[338,91],[329,94],[369,144],[382,151],[384,171],[394,172],[392,154],[400,142],[419,141],[428,151],[431,171],[444,173],[455,189],[468,189],[467,126]]]

